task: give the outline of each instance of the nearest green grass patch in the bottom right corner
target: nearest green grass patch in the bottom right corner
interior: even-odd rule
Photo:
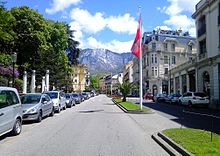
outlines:
[[[192,128],[173,128],[163,133],[195,156],[220,156],[220,135]]]

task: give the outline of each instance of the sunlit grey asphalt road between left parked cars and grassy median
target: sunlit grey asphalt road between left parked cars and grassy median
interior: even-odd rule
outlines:
[[[168,154],[104,95],[0,137],[0,156],[148,155]]]

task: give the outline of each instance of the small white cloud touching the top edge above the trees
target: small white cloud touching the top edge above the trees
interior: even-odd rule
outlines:
[[[77,5],[79,3],[81,3],[81,0],[53,0],[51,8],[46,8],[46,13],[54,14],[67,9],[71,5]]]

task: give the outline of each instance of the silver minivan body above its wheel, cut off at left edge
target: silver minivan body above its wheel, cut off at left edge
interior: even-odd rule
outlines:
[[[21,104],[14,91],[0,91],[0,134],[13,128],[15,116],[21,110]]]

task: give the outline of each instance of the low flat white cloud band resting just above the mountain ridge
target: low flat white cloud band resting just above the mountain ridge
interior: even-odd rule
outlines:
[[[122,53],[131,51],[132,41],[120,42],[118,40],[112,40],[108,43],[102,43],[97,41],[94,37],[89,37],[87,39],[87,46],[90,48],[104,48],[109,49],[114,52]]]

